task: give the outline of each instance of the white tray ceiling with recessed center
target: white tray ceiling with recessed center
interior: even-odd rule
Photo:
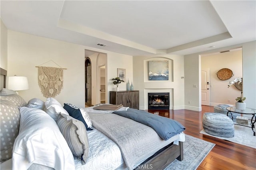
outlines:
[[[255,0],[0,3],[10,30],[128,55],[186,55],[256,40]]]

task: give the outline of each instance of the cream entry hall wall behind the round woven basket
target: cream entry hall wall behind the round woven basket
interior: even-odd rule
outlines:
[[[210,105],[235,105],[235,99],[236,97],[240,97],[241,91],[236,89],[234,85],[228,88],[228,83],[236,77],[242,77],[242,49],[225,53],[201,55],[201,65],[202,70],[210,68]],[[218,79],[216,73],[222,68],[232,70],[234,76],[228,80]]]

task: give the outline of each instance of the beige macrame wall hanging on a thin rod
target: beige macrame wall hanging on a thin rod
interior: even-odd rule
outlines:
[[[44,97],[55,97],[60,94],[60,91],[63,89],[64,68],[36,67],[38,67],[38,85]]]

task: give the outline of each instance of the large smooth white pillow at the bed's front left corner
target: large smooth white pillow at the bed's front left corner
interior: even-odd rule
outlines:
[[[20,107],[20,133],[14,142],[12,169],[31,164],[75,169],[74,157],[56,122],[40,109]]]

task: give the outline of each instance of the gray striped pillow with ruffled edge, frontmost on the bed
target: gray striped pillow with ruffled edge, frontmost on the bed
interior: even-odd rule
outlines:
[[[84,124],[71,116],[60,114],[57,125],[73,155],[80,156],[84,164],[89,153],[88,136]]]

